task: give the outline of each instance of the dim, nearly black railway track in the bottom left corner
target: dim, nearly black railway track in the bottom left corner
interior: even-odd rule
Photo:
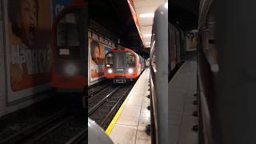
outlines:
[[[84,118],[83,118],[84,117]],[[59,110],[6,138],[2,143],[82,143],[86,142],[86,116],[74,105]]]

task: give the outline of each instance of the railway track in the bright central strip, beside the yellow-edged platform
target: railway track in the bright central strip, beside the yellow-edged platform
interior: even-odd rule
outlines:
[[[106,129],[111,118],[118,111],[119,106],[129,94],[134,82],[122,86],[114,85],[110,89],[100,92],[88,100],[89,116]]]

